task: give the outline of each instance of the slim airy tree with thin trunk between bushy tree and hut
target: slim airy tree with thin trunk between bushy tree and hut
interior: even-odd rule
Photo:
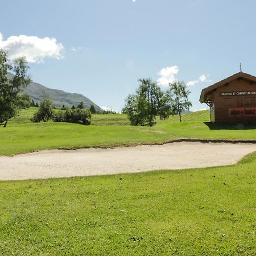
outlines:
[[[183,81],[169,84],[169,89],[166,92],[172,115],[179,114],[180,122],[181,112],[192,106],[191,101],[188,100],[189,93],[187,85]]]

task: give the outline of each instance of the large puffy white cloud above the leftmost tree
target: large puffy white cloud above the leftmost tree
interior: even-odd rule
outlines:
[[[11,60],[25,56],[30,63],[42,63],[46,57],[62,59],[64,47],[55,38],[48,37],[19,35],[3,40],[0,32],[0,49],[7,51]]]

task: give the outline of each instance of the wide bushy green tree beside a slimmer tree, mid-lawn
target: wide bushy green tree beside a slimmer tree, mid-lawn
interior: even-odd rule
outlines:
[[[155,117],[167,118],[169,115],[166,107],[166,96],[151,79],[139,79],[141,84],[135,94],[126,98],[123,112],[126,112],[131,125],[152,126]]]

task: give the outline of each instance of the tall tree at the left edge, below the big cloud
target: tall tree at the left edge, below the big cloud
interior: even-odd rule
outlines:
[[[0,123],[5,122],[3,127],[20,110],[19,93],[31,82],[28,68],[25,57],[10,63],[6,52],[0,50]],[[7,77],[7,71],[14,72],[13,78]]]

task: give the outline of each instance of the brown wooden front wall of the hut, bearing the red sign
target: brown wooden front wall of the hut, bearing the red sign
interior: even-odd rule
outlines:
[[[221,96],[225,92],[232,95]],[[238,92],[256,92],[256,85],[240,79],[218,87],[213,94],[215,122],[256,122],[256,94],[233,95]]]

